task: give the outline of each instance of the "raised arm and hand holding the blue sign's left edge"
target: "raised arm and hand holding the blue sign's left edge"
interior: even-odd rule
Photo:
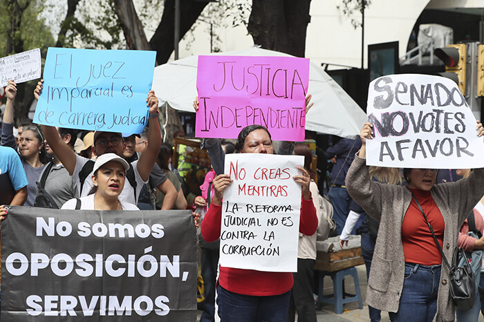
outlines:
[[[44,85],[42,84],[43,82],[44,79],[41,79],[40,82],[37,83],[37,87],[35,87],[34,90],[34,97],[37,101],[39,100],[39,96],[41,95],[42,89],[44,88]],[[64,164],[64,167],[66,167],[66,170],[72,176],[74,173],[76,162],[74,150],[71,149],[71,147],[68,146],[66,142],[64,142],[64,140],[59,137],[59,133],[54,126],[42,125],[42,131],[44,132],[44,135],[46,137],[47,144],[50,145],[50,149],[54,151],[60,162]]]

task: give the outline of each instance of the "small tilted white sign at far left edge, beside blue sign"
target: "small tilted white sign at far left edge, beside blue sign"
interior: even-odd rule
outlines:
[[[7,86],[10,79],[24,83],[40,78],[40,49],[32,49],[0,58],[0,86]]]

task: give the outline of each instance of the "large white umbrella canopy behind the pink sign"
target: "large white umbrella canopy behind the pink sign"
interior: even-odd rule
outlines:
[[[226,53],[223,56],[290,56],[277,51],[250,49]],[[162,103],[178,111],[194,112],[196,97],[196,69],[198,56],[178,59],[157,66],[153,75],[153,90]],[[322,68],[310,63],[308,93],[314,106],[306,117],[306,130],[355,138],[360,133],[366,115],[355,101]]]

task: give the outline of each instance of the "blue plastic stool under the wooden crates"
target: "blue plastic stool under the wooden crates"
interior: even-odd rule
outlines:
[[[323,296],[323,281],[324,276],[331,276],[333,280],[333,290],[334,294]],[[355,293],[356,294],[348,294],[344,292],[344,276],[351,275],[353,276],[353,281],[355,282]],[[349,296],[349,297],[346,297]],[[345,299],[346,297],[346,299]],[[360,309],[363,308],[362,303],[362,294],[360,292],[360,283],[358,282],[358,273],[355,267],[349,267],[345,269],[341,269],[337,272],[319,272],[319,287],[318,287],[318,300],[317,300],[317,309],[321,303],[331,303],[335,305],[335,313],[342,314],[343,313],[343,304],[351,303],[358,301],[360,304]]]

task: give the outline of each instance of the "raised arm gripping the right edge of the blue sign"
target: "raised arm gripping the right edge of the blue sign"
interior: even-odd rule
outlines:
[[[149,91],[146,99],[149,106],[149,128],[148,128],[148,146],[141,153],[138,161],[138,172],[142,180],[148,180],[149,173],[156,162],[156,155],[161,146],[160,124],[158,123],[158,98],[154,91]]]

